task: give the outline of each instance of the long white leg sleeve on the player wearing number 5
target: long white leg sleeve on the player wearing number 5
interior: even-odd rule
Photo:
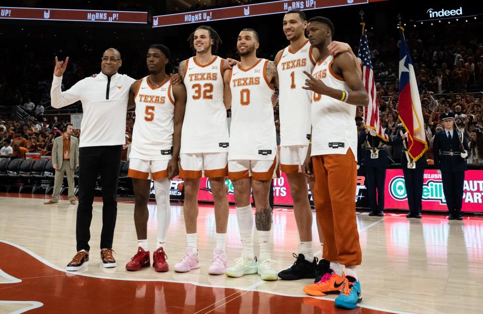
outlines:
[[[166,179],[154,181],[154,195],[157,204],[157,245],[165,245],[166,232],[170,226],[171,205],[170,205],[170,181]]]

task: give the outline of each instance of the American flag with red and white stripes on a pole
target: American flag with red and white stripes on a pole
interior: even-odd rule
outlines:
[[[373,129],[376,135],[385,141],[388,141],[387,134],[381,126],[379,119],[379,105],[376,97],[376,85],[374,83],[374,71],[372,69],[371,53],[367,42],[365,24],[362,23],[362,35],[359,43],[359,53],[357,55],[362,67],[362,82],[369,95],[369,105],[364,107],[364,124],[366,128]]]

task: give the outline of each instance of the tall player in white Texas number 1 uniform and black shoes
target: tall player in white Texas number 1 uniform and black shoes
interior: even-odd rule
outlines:
[[[307,179],[302,173],[301,166],[310,140],[311,102],[310,93],[302,89],[306,78],[303,71],[311,73],[320,55],[305,37],[306,28],[307,21],[302,11],[288,11],[283,18],[283,31],[290,45],[279,51],[275,57],[280,80],[280,164],[290,185],[300,237],[300,253],[297,260],[290,268],[279,272],[278,276],[284,280],[315,278],[318,281],[327,271],[328,262],[320,259],[317,267],[313,256],[312,210],[308,200]],[[352,53],[346,43],[332,42],[328,48],[332,55],[344,51]],[[353,58],[357,59],[355,56]],[[308,184],[310,191],[313,192],[313,179],[309,178]],[[324,243],[324,236],[320,230],[319,240],[321,244]]]

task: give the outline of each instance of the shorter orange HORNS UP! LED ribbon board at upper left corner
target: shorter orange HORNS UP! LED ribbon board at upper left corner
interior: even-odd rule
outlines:
[[[0,7],[0,19],[147,23],[147,12]]]

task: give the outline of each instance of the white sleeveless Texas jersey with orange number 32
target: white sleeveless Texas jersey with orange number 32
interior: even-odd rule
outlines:
[[[181,153],[228,151],[223,63],[224,60],[217,56],[206,65],[196,62],[196,57],[186,60],[183,74],[186,110]]]

